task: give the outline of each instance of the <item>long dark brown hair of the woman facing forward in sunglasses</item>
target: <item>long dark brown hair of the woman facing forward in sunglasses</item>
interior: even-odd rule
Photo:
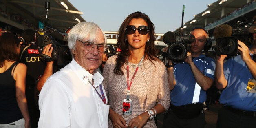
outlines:
[[[121,49],[121,53],[117,54],[117,59],[116,59],[117,64],[114,69],[114,73],[117,75],[124,75],[124,72],[121,70],[121,67],[124,66],[124,63],[126,62],[126,58],[128,58],[130,55],[130,51],[128,49],[128,42],[125,41],[126,35],[127,35],[125,30],[128,24],[130,23],[130,21],[134,18],[135,19],[142,18],[148,24],[148,29],[149,29],[148,35],[150,35],[150,40],[149,42],[146,42],[145,58],[150,61],[159,60],[158,57],[156,56],[156,48],[154,45],[154,41],[155,41],[154,24],[151,22],[148,15],[137,11],[135,13],[128,15],[128,17],[121,24],[118,31],[119,35],[117,37],[117,47]]]

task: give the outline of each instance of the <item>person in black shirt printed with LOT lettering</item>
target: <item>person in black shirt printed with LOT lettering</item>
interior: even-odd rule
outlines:
[[[31,117],[31,127],[38,126],[40,111],[38,108],[38,94],[35,86],[38,79],[44,73],[45,63],[39,54],[39,47],[35,45],[35,31],[33,29],[26,29],[22,33],[24,46],[21,47],[20,62],[26,64],[26,98]]]

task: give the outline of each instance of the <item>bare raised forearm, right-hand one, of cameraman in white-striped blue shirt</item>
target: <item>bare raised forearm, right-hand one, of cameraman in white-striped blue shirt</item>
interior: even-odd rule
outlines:
[[[213,83],[213,80],[207,76],[205,76],[194,64],[192,61],[191,53],[188,52],[187,57],[185,58],[185,62],[190,65],[191,71],[194,74],[197,84],[203,89],[208,90]]]

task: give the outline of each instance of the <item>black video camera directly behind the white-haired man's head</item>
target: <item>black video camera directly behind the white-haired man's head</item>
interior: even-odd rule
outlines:
[[[66,66],[72,60],[72,55],[68,45],[65,43],[64,35],[51,27],[44,28],[44,31],[38,30],[36,33],[36,44],[41,48],[40,55],[46,62],[56,61],[59,66]],[[44,47],[52,44],[52,57],[42,54]]]

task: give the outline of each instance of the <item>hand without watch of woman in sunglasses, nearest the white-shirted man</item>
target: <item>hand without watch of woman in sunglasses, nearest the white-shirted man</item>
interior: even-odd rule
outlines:
[[[124,118],[117,114],[112,108],[109,109],[109,118],[114,128],[128,128]]]

